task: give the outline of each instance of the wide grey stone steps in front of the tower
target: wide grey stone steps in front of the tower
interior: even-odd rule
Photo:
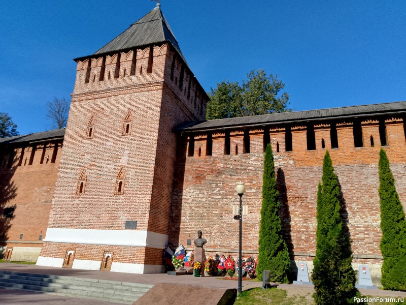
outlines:
[[[0,288],[37,291],[124,304],[132,304],[152,286],[154,285],[0,271]]]

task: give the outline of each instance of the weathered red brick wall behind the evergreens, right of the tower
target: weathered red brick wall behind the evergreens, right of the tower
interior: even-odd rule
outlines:
[[[400,200],[406,210],[406,145],[403,121],[387,119],[387,151],[396,179]],[[331,149],[329,124],[315,126],[316,150],[307,150],[305,126],[292,126],[293,151],[285,151],[284,127],[271,128],[270,141],[281,193],[281,217],[285,239],[295,259],[315,254],[317,185],[321,179],[325,149],[341,184],[346,219],[352,240],[354,262],[380,261],[380,203],[378,196],[378,160],[381,142],[377,120],[362,122],[364,147],[355,148],[351,121],[337,124],[338,149]],[[238,134],[231,131],[231,135]],[[370,147],[370,135],[375,146]],[[187,137],[180,139],[172,206],[170,242],[186,245],[201,229],[208,240],[205,247],[219,252],[238,249],[239,223],[233,220],[232,205],[239,203],[236,183],[246,185],[243,204],[249,214],[243,216],[243,251],[256,253],[260,222],[263,173],[263,130],[250,131],[250,154],[235,155],[231,136],[230,155],[224,155],[224,133],[213,132],[213,156],[186,157]],[[196,145],[205,146],[205,133],[195,135]],[[239,141],[236,137],[235,141]],[[325,149],[321,140],[324,139]],[[241,142],[241,140],[239,141]],[[276,153],[276,142],[280,153]],[[198,143],[198,144],[197,144]],[[234,145],[235,146],[235,145]],[[239,144],[240,147],[240,144]],[[196,156],[196,155],[195,155]],[[192,245],[193,246],[193,245]],[[213,252],[214,253],[214,252]],[[304,255],[304,256],[302,256]],[[238,256],[238,255],[236,255]],[[308,257],[309,259],[309,257]]]

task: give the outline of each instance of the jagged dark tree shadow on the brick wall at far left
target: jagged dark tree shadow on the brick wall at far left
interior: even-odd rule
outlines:
[[[17,165],[12,167],[5,166],[0,168],[0,247],[6,246],[8,239],[7,232],[11,227],[11,220],[14,218],[15,205],[9,205],[9,202],[17,196],[17,187],[14,184],[13,176]],[[0,253],[0,258],[4,257],[4,250]]]

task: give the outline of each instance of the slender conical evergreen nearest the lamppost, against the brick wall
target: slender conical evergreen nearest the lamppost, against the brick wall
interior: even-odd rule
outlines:
[[[274,155],[268,144],[265,150],[262,179],[261,228],[257,266],[257,275],[260,280],[262,280],[263,270],[266,269],[270,270],[270,281],[288,282],[290,258],[281,229]]]

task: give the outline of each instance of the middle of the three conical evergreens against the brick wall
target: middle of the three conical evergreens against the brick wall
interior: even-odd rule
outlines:
[[[317,193],[316,257],[312,281],[318,304],[347,304],[356,295],[350,238],[340,217],[340,185],[326,151]]]

